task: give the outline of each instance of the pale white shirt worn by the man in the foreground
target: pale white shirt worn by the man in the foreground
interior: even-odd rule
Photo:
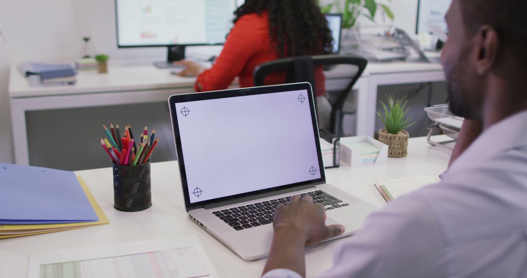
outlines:
[[[488,128],[441,183],[370,215],[320,276],[527,277],[527,111]]]

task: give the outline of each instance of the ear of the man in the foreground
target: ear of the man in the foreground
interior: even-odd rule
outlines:
[[[474,39],[474,47],[476,47],[475,70],[477,74],[483,75],[495,66],[500,48],[500,38],[494,27],[483,25],[477,31]]]

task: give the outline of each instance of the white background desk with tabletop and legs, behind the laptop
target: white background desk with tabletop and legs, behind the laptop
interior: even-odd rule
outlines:
[[[335,67],[326,73],[327,90],[345,88],[346,71]],[[444,80],[439,64],[369,63],[355,84],[357,135],[373,136],[379,85],[435,82]],[[152,65],[110,67],[108,74],[80,72],[77,84],[64,87],[33,88],[26,78],[11,68],[9,98],[15,148],[15,163],[29,165],[26,112],[57,108],[80,108],[147,102],[164,102],[172,94],[193,92],[195,78],[170,74]],[[45,125],[45,123],[43,123]]]

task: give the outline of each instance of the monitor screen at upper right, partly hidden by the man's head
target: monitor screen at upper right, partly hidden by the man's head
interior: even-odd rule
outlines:
[[[447,34],[445,14],[451,2],[452,0],[419,0],[415,33],[436,33],[436,29]]]

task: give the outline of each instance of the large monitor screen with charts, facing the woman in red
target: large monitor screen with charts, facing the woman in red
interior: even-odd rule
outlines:
[[[222,44],[236,0],[115,0],[119,47]]]

